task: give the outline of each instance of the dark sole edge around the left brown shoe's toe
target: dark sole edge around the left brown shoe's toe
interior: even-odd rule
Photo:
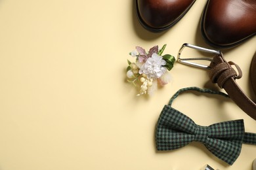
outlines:
[[[167,25],[166,27],[161,27],[161,28],[155,28],[155,27],[150,27],[148,24],[146,24],[140,14],[139,14],[139,7],[138,7],[138,0],[135,0],[135,4],[136,4],[136,13],[137,13],[137,18],[139,19],[140,25],[142,25],[142,27],[144,27],[145,29],[147,29],[148,31],[154,32],[154,33],[160,33],[163,32],[167,29],[170,29],[171,27],[173,27],[173,25],[177,24],[177,22],[179,22],[181,20],[181,18],[183,18],[183,16],[186,14],[186,12],[188,12],[188,10],[190,10],[190,8],[194,5],[194,3],[196,2],[196,0],[194,2],[191,3],[191,5],[188,7],[188,9],[186,9],[184,11],[184,13],[177,19],[175,20],[175,22],[173,22],[170,25]]]

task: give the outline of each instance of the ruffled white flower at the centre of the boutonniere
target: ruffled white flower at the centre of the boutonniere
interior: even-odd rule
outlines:
[[[152,57],[148,58],[146,63],[140,67],[139,73],[140,75],[144,73],[147,78],[160,78],[160,76],[167,71],[165,67],[162,67],[162,65],[165,64],[166,61],[163,60],[161,56],[154,53],[152,54]]]

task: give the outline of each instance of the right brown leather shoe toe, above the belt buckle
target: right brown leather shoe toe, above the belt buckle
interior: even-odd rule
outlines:
[[[256,34],[256,0],[208,0],[201,25],[210,45],[236,46]]]

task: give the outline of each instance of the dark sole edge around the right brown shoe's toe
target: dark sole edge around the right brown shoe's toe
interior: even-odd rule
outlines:
[[[209,4],[209,1],[210,0],[207,0],[207,4],[205,5],[204,9],[203,9],[203,13],[202,13],[202,16],[201,16],[201,26],[200,26],[200,29],[201,29],[201,34],[202,34],[202,37],[204,39],[204,41],[209,44],[210,46],[213,46],[214,48],[232,48],[234,46],[238,46],[239,44],[242,44],[243,42],[251,39],[252,37],[254,37],[256,35],[256,33],[253,33],[252,35],[250,35],[249,37],[246,37],[245,39],[242,39],[241,41],[238,41],[238,42],[235,42],[233,44],[228,44],[228,45],[220,45],[220,44],[215,44],[211,41],[209,41],[209,39],[207,38],[207,36],[205,35],[205,32],[204,32],[204,29],[203,29],[203,21],[205,19],[205,12],[206,12],[206,9],[208,7],[208,4]]]

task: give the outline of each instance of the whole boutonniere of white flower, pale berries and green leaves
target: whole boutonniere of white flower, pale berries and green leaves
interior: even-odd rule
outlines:
[[[158,46],[150,48],[148,53],[144,48],[136,46],[136,50],[129,54],[136,58],[135,62],[127,59],[129,66],[127,67],[127,81],[135,86],[140,86],[138,95],[152,95],[158,86],[164,86],[171,82],[171,75],[168,71],[173,68],[175,57],[170,54],[163,54],[166,44],[158,50]]]

